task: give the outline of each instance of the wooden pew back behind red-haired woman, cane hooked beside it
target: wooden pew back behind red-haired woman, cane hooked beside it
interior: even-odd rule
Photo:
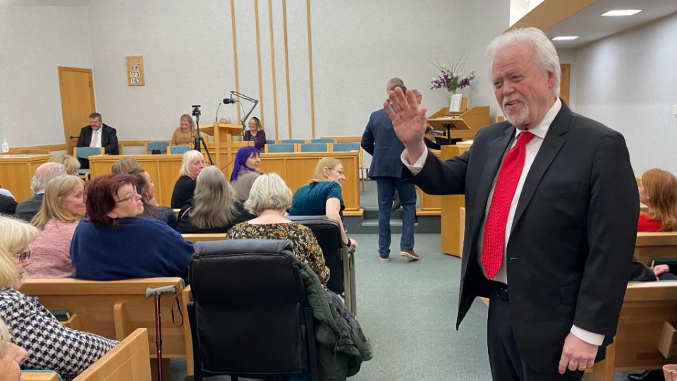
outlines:
[[[169,363],[169,358],[185,358],[188,375],[193,375],[193,339],[188,324],[188,311],[183,302],[184,287],[181,278],[142,278],[110,282],[27,279],[21,291],[39,298],[40,303],[49,310],[68,310],[71,320],[66,325],[73,329],[121,341],[135,329],[146,328],[150,358],[157,358],[155,305],[152,298],[145,298],[145,291],[147,287],[161,286],[175,286],[178,298],[178,303],[175,303],[171,294],[164,294],[160,299],[163,361]],[[172,309],[179,327],[172,322]]]

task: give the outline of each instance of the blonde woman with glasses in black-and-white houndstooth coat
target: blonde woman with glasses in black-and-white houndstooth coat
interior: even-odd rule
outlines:
[[[62,325],[37,298],[21,294],[30,243],[39,231],[23,221],[0,216],[0,318],[12,341],[28,351],[25,369],[54,370],[65,379],[83,372],[118,341]]]

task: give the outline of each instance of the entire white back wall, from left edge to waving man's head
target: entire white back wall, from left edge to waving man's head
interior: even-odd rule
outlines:
[[[293,138],[310,138],[305,1],[287,2],[289,89],[281,3],[274,3],[271,12],[266,1],[259,1],[260,90],[254,5],[250,0],[235,1],[239,90],[260,99],[252,115],[264,116],[268,135],[274,137],[277,120],[279,138],[289,138],[291,105]],[[490,37],[506,28],[507,5],[469,0],[348,3],[315,0],[310,5],[315,137],[361,135],[370,113],[382,107],[386,80],[393,76],[419,89],[432,111],[444,107],[446,93],[429,90],[429,80],[437,74],[429,62],[435,59],[456,61],[467,56],[465,71],[474,68],[477,75],[472,87],[464,91],[470,104],[495,103],[487,83],[484,47]],[[459,11],[463,9],[467,13]],[[236,90],[228,1],[93,0],[80,8],[1,10],[0,42],[16,51],[6,54],[3,49],[3,68],[27,61],[33,66],[27,69],[30,86],[3,87],[10,91],[0,95],[6,99],[1,104],[0,127],[20,125],[29,114],[47,123],[40,127],[46,133],[31,138],[0,131],[13,146],[63,143],[56,78],[59,65],[92,68],[97,111],[118,129],[121,140],[169,138],[179,116],[190,114],[192,104],[202,104],[200,123],[209,123],[221,99]],[[25,25],[32,28],[25,32]],[[468,31],[468,25],[472,30]],[[143,56],[145,86],[127,85],[128,55]],[[0,78],[3,83],[16,80],[11,71],[3,71]],[[35,115],[34,103],[44,111]],[[242,106],[248,111],[251,104],[243,102]],[[14,109],[18,111],[11,114]],[[236,105],[222,105],[219,116],[237,120],[237,110]]]

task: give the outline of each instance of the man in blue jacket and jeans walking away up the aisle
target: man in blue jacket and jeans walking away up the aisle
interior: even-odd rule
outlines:
[[[406,91],[402,80],[392,78],[386,89],[393,91],[400,87]],[[414,221],[416,218],[416,188],[413,183],[402,181],[400,154],[404,145],[395,135],[393,122],[384,109],[372,112],[365,133],[362,135],[362,148],[372,155],[369,177],[377,183],[379,196],[379,259],[390,260],[390,213],[393,207],[395,191],[402,202],[402,237],[400,255],[417,260],[414,251]]]

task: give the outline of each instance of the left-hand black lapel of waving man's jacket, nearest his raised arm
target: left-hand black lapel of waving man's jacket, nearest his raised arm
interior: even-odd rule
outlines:
[[[514,136],[515,127],[510,126],[506,128],[503,136],[494,139],[494,143],[489,148],[489,157],[487,157],[487,162],[484,163],[480,183],[477,186],[477,200],[475,201],[475,210],[472,217],[473,240],[475,240],[477,234],[480,234],[480,224],[484,222],[484,212],[487,210],[489,192],[492,191],[492,184],[494,179],[496,179],[496,173],[499,171],[499,167],[501,167],[504,154]]]

